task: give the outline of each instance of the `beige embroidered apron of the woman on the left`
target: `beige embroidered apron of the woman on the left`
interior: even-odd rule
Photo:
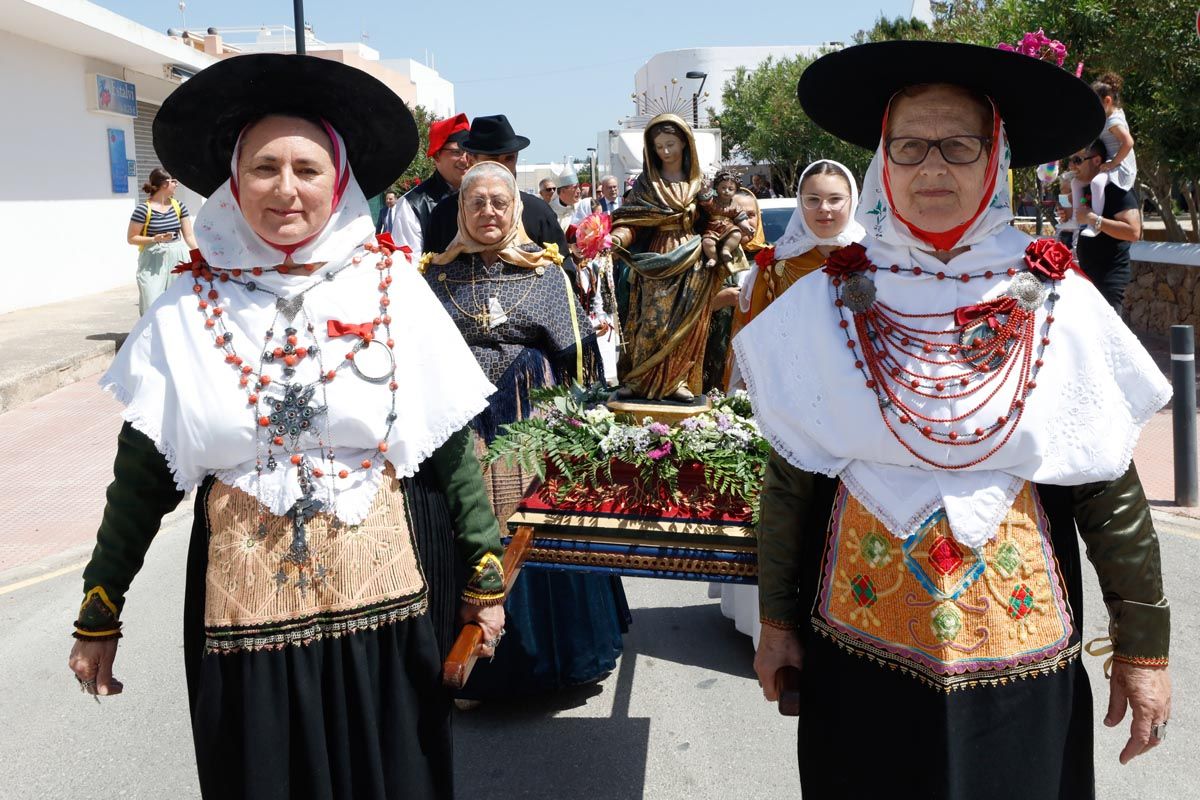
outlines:
[[[306,644],[426,610],[412,523],[390,465],[361,523],[344,525],[328,513],[308,521],[311,558],[302,565],[287,559],[292,521],[266,515],[264,523],[258,500],[241,489],[214,481],[204,510],[210,652]]]

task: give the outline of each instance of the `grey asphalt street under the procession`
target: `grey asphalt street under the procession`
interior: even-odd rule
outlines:
[[[125,694],[98,704],[79,693],[66,667],[79,569],[0,587],[6,685],[0,694],[0,798],[199,796],[181,645],[190,525],[188,511],[176,512],[151,548],[124,614],[126,637],[115,673],[125,681]],[[1200,600],[1188,589],[1200,575],[1200,533],[1195,525],[1168,523],[1159,530],[1174,621],[1170,738],[1151,756],[1120,766],[1126,728],[1097,723],[1102,799],[1176,800],[1196,796],[1200,784]],[[1103,634],[1105,621],[1094,577],[1085,581],[1085,634],[1091,638]],[[626,579],[625,587],[634,627],[618,669],[605,681],[457,715],[458,795],[798,798],[794,721],[762,700],[749,637],[721,616],[703,584]],[[1099,660],[1088,657],[1087,664],[1099,720],[1106,690]],[[876,734],[864,746],[919,738],[919,732],[899,728]],[[864,763],[869,760],[864,751]],[[1020,764],[997,764],[996,771],[1019,796]]]

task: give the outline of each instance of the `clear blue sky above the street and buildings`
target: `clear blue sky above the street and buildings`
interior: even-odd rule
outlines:
[[[97,0],[148,28],[182,26],[178,0]],[[455,84],[460,112],[506,114],[533,143],[522,161],[584,157],[596,132],[634,110],[634,73],[662,50],[848,41],[880,14],[907,14],[911,0],[691,2],[584,0],[307,0],[305,16],[326,42],[358,41],[384,59],[425,60]],[[292,25],[287,0],[188,0],[187,26]],[[677,14],[671,17],[671,14]],[[714,95],[719,86],[706,86]]]

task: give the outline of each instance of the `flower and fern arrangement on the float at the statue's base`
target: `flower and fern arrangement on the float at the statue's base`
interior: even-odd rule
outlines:
[[[710,410],[673,426],[613,414],[602,404],[602,385],[532,395],[539,414],[505,426],[487,462],[536,474],[544,499],[556,506],[757,521],[770,447],[744,391],[713,392]]]

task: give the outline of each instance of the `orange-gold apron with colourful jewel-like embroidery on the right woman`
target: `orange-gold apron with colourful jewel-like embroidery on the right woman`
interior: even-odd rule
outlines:
[[[844,649],[952,691],[1066,667],[1067,593],[1045,513],[1026,483],[983,547],[937,511],[892,536],[846,487],[834,503],[812,624]]]

